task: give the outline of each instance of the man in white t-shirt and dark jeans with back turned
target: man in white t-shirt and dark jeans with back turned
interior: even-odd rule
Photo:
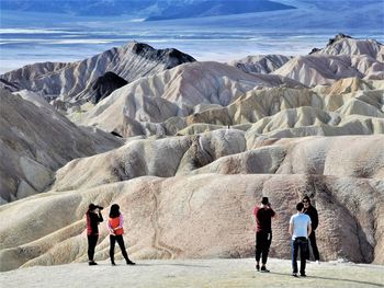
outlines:
[[[304,214],[304,204],[297,203],[297,212],[291,217],[290,234],[292,237],[292,276],[297,277],[297,254],[300,251],[300,274],[305,277],[306,254],[308,249],[308,235],[312,231],[309,216]]]

